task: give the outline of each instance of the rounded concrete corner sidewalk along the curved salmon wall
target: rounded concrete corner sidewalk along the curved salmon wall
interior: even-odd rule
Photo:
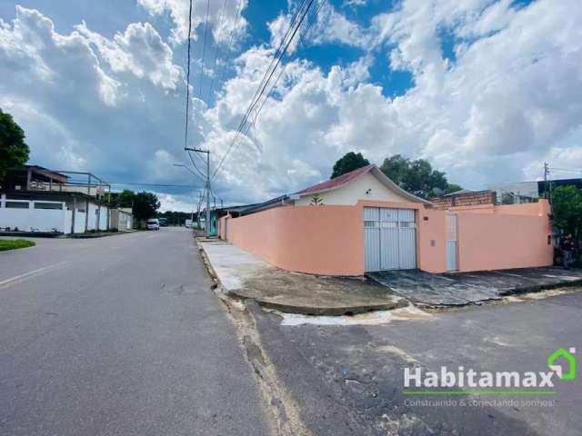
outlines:
[[[404,307],[404,298],[358,278],[286,272],[231,243],[198,240],[226,293],[263,307],[310,315],[343,315]]]

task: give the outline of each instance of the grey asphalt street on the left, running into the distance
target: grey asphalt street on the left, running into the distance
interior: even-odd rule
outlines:
[[[268,434],[186,230],[36,242],[0,253],[0,434]]]

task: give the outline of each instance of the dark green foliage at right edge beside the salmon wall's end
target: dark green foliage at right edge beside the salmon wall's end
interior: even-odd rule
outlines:
[[[579,238],[582,229],[582,190],[576,186],[558,186],[552,193],[553,221],[566,233]]]

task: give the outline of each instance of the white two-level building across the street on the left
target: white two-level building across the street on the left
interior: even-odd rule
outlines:
[[[92,173],[52,171],[38,165],[9,170],[0,187],[2,231],[56,234],[110,228],[110,186]]]

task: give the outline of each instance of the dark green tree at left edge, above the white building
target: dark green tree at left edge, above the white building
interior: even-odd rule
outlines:
[[[11,114],[0,109],[0,181],[9,168],[22,166],[28,161],[30,149],[25,144],[25,132]]]

